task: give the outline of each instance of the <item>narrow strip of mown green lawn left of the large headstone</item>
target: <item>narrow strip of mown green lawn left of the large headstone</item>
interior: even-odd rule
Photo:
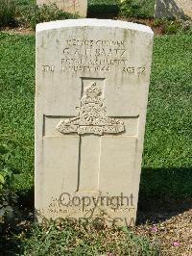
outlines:
[[[1,143],[15,186],[29,190],[34,173],[35,38],[0,34]]]

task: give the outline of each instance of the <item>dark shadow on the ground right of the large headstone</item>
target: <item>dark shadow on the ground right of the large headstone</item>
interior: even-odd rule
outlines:
[[[143,168],[137,224],[157,223],[192,209],[192,167]]]

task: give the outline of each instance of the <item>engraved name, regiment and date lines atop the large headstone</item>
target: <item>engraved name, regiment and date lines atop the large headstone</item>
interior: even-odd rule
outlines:
[[[124,40],[74,39],[64,41],[61,49],[61,74],[108,73],[121,70],[123,75],[140,77],[146,74],[146,66],[132,66],[131,52]],[[55,71],[55,66],[43,65],[44,72]]]

